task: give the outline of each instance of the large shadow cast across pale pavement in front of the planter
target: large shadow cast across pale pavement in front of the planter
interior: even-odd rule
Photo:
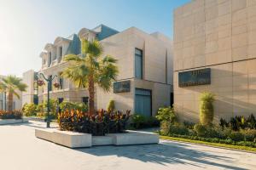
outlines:
[[[219,156],[218,152],[196,150],[189,144],[163,142],[162,144],[142,144],[128,146],[99,146],[78,151],[93,156],[118,156],[145,163],[183,164],[204,168],[212,166],[215,168],[227,168],[244,170],[246,168],[232,166],[236,162],[229,156]],[[242,153],[237,153],[242,154]],[[111,160],[110,160],[111,161]]]

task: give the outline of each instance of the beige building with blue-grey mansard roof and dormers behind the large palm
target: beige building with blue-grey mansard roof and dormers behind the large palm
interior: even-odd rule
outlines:
[[[136,27],[119,32],[103,25],[92,30],[83,28],[78,34],[57,37],[55,42],[45,45],[44,52],[40,54],[42,68],[39,73],[45,77],[57,76],[53,82],[61,84],[58,89],[50,86],[50,98],[59,102],[88,102],[86,89],[78,89],[73,82],[60,77],[61,71],[68,66],[68,62],[62,60],[63,56],[80,54],[79,37],[98,39],[104,53],[118,59],[119,76],[117,82],[113,82],[111,92],[106,94],[96,87],[96,109],[106,109],[109,100],[113,99],[119,111],[131,110],[150,116],[160,106],[172,105],[172,41],[159,32],[148,34]],[[46,97],[47,86],[38,88],[39,103]]]

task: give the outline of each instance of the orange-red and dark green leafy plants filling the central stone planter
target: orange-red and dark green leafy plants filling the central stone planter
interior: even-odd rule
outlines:
[[[130,111],[98,111],[90,115],[83,111],[63,111],[58,116],[59,127],[63,131],[90,133],[102,136],[105,133],[125,133]]]

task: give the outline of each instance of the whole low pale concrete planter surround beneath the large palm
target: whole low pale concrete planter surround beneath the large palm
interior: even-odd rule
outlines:
[[[158,144],[159,135],[128,131],[127,133],[108,133],[106,136],[91,136],[89,133],[60,131],[56,128],[40,128],[35,130],[35,136],[55,144],[69,148],[83,148],[92,145],[128,145],[128,144]]]

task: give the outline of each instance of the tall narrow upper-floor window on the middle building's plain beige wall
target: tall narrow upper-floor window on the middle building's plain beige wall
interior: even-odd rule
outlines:
[[[143,50],[135,48],[135,77],[143,79]]]

